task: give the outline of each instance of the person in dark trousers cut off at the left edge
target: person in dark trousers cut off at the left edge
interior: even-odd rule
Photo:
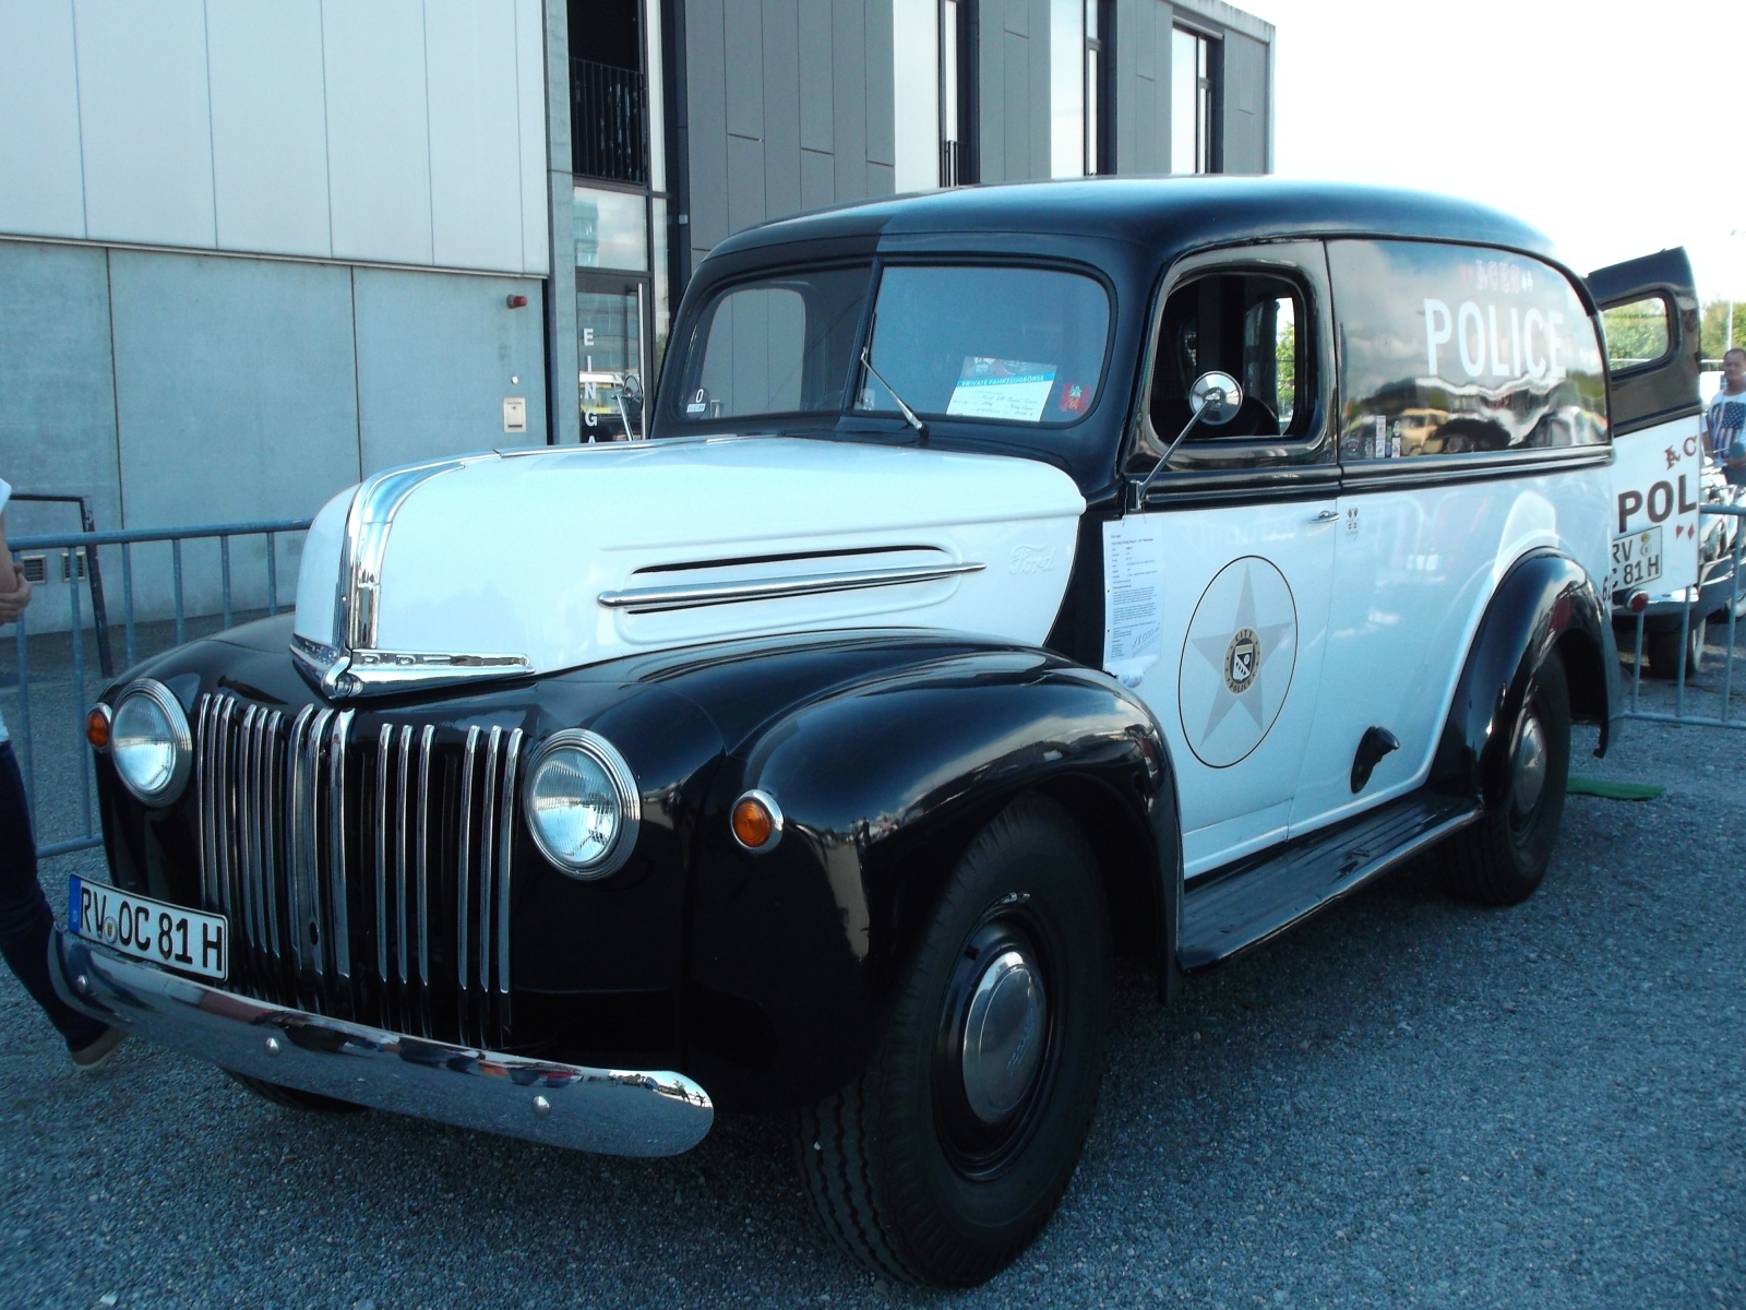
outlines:
[[[24,580],[24,569],[12,562],[5,541],[5,503],[10,498],[12,487],[0,479],[0,627],[19,622],[30,606],[30,582]],[[30,831],[24,779],[17,772],[5,720],[0,718],[0,955],[49,1022],[61,1031],[73,1064],[96,1069],[127,1034],[80,1015],[54,994],[54,983],[49,982],[52,933],[54,915],[37,882],[37,838]]]

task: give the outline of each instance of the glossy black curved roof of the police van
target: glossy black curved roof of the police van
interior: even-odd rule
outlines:
[[[1049,232],[1159,253],[1283,236],[1400,236],[1552,255],[1545,234],[1451,196],[1255,176],[1065,178],[889,196],[777,218],[730,236],[730,255],[789,241],[948,232]]]

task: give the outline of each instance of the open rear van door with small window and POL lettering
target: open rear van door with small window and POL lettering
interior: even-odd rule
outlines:
[[[1683,606],[1699,575],[1699,534],[1708,527],[1697,514],[1706,451],[1692,264],[1685,250],[1662,250],[1596,269],[1587,281],[1606,328],[1612,390],[1608,594],[1646,590],[1657,610]],[[1715,470],[1711,479],[1720,482]]]

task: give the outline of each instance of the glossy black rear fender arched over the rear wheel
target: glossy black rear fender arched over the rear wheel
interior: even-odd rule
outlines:
[[[1547,655],[1564,658],[1571,709],[1599,723],[1606,751],[1619,713],[1619,652],[1610,611],[1587,569],[1568,555],[1535,552],[1498,583],[1461,669],[1444,721],[1430,786],[1502,803],[1509,788],[1509,728]]]

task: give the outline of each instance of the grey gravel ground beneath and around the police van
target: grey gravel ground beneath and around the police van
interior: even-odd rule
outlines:
[[[138,1043],[79,1076],[0,971],[0,1301],[1746,1307],[1746,737],[1591,746],[1667,791],[1571,798],[1523,907],[1425,861],[1173,1013],[1126,975],[1084,1163],[971,1293],[842,1259],[775,1121],[629,1162],[295,1114]]]

